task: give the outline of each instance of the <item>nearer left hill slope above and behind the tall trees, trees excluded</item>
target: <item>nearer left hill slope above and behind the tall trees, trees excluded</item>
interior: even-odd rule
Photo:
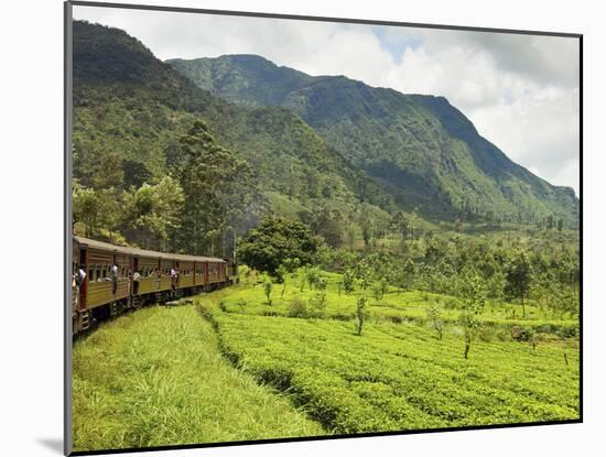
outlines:
[[[166,157],[178,153],[178,139],[203,118],[220,144],[251,163],[268,193],[299,204],[315,198],[393,205],[293,111],[226,102],[118,29],[74,22],[74,175],[87,186],[158,179],[166,173]],[[99,183],[108,166],[116,179]]]

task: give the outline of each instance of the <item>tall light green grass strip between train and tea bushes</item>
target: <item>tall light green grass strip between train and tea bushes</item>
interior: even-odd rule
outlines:
[[[325,434],[221,358],[193,306],[151,307],[76,341],[75,450]]]

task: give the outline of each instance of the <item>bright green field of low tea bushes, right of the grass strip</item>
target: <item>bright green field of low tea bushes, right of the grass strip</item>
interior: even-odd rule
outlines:
[[[454,324],[439,340],[429,323],[396,324],[377,306],[357,336],[354,320],[331,318],[354,311],[350,297],[331,304],[335,296],[328,294],[325,318],[311,319],[283,317],[285,305],[263,305],[260,287],[223,291],[199,303],[236,366],[289,392],[335,433],[578,418],[576,340],[544,334],[532,348],[485,333],[465,360]]]

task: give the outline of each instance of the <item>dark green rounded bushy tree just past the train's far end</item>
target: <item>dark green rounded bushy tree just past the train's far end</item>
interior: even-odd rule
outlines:
[[[240,243],[240,260],[249,266],[275,275],[286,259],[312,263],[317,240],[307,226],[280,217],[266,217]]]

